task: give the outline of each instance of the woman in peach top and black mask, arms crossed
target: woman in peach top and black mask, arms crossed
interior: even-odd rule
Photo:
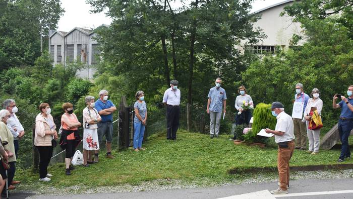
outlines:
[[[75,148],[81,141],[80,135],[77,131],[78,127],[81,126],[81,123],[78,121],[76,115],[73,113],[74,108],[71,103],[64,103],[63,109],[65,113],[62,116],[63,132],[60,137],[60,146],[63,150],[66,149],[65,174],[70,175],[71,170],[75,169],[72,165],[70,165],[72,158],[75,154]]]

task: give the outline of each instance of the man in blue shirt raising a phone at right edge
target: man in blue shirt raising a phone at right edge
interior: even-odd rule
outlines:
[[[348,144],[348,136],[353,129],[353,85],[347,89],[348,98],[341,95],[342,101],[336,104],[337,94],[333,96],[332,107],[333,109],[341,108],[341,115],[338,120],[338,133],[341,140],[341,154],[339,155],[338,162],[343,162],[344,159],[350,159],[350,149]]]

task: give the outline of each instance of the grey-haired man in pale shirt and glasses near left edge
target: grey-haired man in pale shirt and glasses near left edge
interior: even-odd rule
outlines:
[[[3,109],[8,110],[11,114],[11,117],[7,121],[7,126],[14,136],[15,154],[18,158],[19,139],[25,135],[25,130],[16,116],[18,108],[16,106],[15,100],[6,99],[3,103]]]

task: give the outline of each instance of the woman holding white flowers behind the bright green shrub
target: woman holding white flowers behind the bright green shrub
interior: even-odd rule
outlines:
[[[241,114],[236,114],[236,125],[242,125],[242,124],[249,124],[252,114],[250,110],[243,110],[242,106],[243,103],[250,103],[253,102],[253,99],[249,94],[247,94],[247,89],[245,88],[244,85],[241,85],[238,89],[238,92],[240,95],[237,96],[236,98],[236,103],[234,107],[237,109],[237,113]],[[235,136],[233,137],[233,140],[237,139]]]

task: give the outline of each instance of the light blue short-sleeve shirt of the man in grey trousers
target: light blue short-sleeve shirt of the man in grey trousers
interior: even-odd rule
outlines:
[[[208,98],[211,98],[210,111],[222,112],[223,100],[227,99],[225,90],[222,87],[212,87],[208,92]]]

